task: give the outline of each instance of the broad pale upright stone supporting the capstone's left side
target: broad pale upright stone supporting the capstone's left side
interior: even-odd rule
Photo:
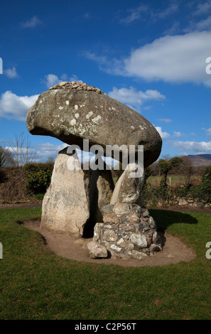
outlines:
[[[79,166],[66,148],[55,159],[51,183],[43,198],[41,225],[82,235],[90,217],[90,176],[82,169],[70,170],[68,163]]]

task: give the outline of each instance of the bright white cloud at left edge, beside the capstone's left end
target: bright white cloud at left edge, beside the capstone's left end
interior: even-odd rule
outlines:
[[[18,96],[11,90],[4,92],[0,99],[0,117],[26,121],[28,109],[36,102],[38,96]]]

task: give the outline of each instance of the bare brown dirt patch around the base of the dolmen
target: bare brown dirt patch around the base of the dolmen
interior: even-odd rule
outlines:
[[[23,226],[38,231],[43,236],[45,247],[48,247],[54,254],[80,262],[116,264],[119,266],[166,266],[178,262],[190,262],[196,256],[194,250],[184,244],[180,238],[166,232],[159,232],[163,251],[156,252],[156,254],[146,259],[119,259],[117,257],[91,259],[87,251],[87,243],[92,241],[92,238],[85,239],[67,232],[48,230],[40,227],[40,220],[26,220],[23,222]]]

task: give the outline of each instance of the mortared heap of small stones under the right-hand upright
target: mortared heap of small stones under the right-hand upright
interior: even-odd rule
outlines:
[[[106,247],[112,256],[144,259],[162,250],[156,223],[145,208],[117,203],[102,208],[103,222],[94,226],[93,242]]]

